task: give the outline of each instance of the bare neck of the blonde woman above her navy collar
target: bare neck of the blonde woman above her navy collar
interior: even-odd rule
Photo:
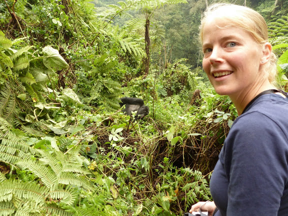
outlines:
[[[272,85],[268,80],[265,83],[262,83],[260,86],[253,86],[250,89],[243,89],[241,92],[237,92],[233,95],[228,95],[231,101],[234,103],[238,115],[242,114],[246,105],[259,93],[264,90],[275,89],[275,86]]]

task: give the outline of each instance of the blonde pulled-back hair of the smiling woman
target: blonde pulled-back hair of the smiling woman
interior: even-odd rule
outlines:
[[[215,3],[206,8],[199,26],[199,39],[202,43],[203,28],[207,21],[221,19],[228,23],[221,28],[228,26],[238,26],[249,32],[260,45],[268,42],[268,28],[264,18],[255,10],[236,4]],[[216,22],[216,21],[215,21]],[[272,52],[269,61],[264,64],[264,76],[273,83],[277,74],[276,55]]]

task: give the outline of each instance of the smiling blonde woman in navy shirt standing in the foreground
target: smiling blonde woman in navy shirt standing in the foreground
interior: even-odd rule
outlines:
[[[214,201],[198,202],[190,212],[201,206],[217,216],[287,216],[288,99],[273,84],[276,57],[265,20],[248,7],[213,4],[200,39],[209,81],[239,116],[210,179]]]

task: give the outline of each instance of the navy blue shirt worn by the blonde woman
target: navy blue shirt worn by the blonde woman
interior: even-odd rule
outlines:
[[[288,216],[288,99],[258,97],[232,124],[210,179],[217,216]]]

